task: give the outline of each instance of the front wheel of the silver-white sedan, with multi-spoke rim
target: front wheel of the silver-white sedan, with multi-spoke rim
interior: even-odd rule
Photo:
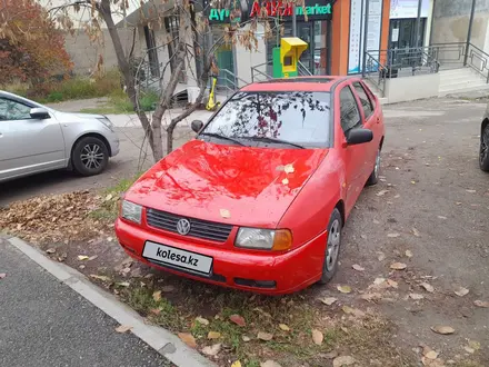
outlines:
[[[99,175],[106,169],[109,162],[109,149],[99,138],[81,138],[74,145],[71,162],[78,175]]]

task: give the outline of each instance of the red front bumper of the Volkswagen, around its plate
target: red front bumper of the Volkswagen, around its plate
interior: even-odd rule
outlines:
[[[268,295],[290,294],[316,282],[321,277],[327,234],[288,252],[271,254],[202,245],[192,238],[177,239],[121,220],[116,234],[122,248],[137,260],[154,268],[219,286]],[[209,276],[192,274],[142,257],[146,241],[176,247],[213,259]]]

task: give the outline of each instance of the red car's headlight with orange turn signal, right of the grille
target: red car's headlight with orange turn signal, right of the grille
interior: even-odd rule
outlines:
[[[261,250],[288,250],[292,247],[292,232],[288,229],[240,228],[234,246]]]

